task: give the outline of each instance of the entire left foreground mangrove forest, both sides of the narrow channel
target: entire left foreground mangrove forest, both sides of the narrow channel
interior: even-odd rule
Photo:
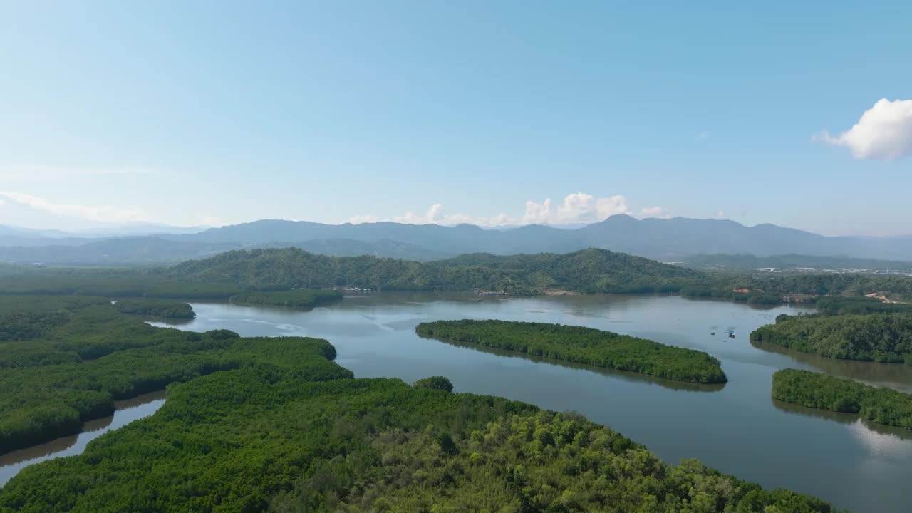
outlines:
[[[0,369],[0,453],[74,433],[113,398],[168,396],[81,455],[27,466],[0,488],[3,513],[834,510],[696,460],[670,466],[579,414],[451,393],[440,376],[354,379],[326,340],[182,332],[90,298],[30,301],[67,318],[0,346],[49,355]]]

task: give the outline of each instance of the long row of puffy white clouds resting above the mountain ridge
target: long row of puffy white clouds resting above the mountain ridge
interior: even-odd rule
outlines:
[[[492,215],[491,217],[476,217],[467,214],[447,214],[442,204],[431,205],[424,214],[406,212],[392,219],[381,219],[376,215],[356,215],[348,220],[349,223],[376,223],[378,221],[395,221],[409,225],[459,225],[469,223],[480,226],[503,225],[568,225],[576,223],[597,223],[604,221],[610,215],[629,214],[627,198],[616,194],[604,198],[596,198],[592,194],[575,193],[567,194],[564,201],[554,204],[551,198],[542,203],[532,200],[525,202],[523,215]]]

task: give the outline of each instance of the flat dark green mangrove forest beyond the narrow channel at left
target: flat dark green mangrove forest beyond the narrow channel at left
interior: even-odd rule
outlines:
[[[63,299],[29,300],[40,312]],[[0,325],[0,332],[5,330]],[[0,454],[78,433],[82,422],[110,414],[118,399],[225,369],[280,369],[308,354],[321,356],[308,375],[350,376],[334,363],[324,365],[325,357],[335,357],[326,340],[239,339],[227,330],[153,328],[107,301],[88,301],[40,338],[0,343]]]

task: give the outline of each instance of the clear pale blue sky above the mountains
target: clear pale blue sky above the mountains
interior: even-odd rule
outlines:
[[[629,4],[0,0],[0,224],[912,233],[912,4]]]

